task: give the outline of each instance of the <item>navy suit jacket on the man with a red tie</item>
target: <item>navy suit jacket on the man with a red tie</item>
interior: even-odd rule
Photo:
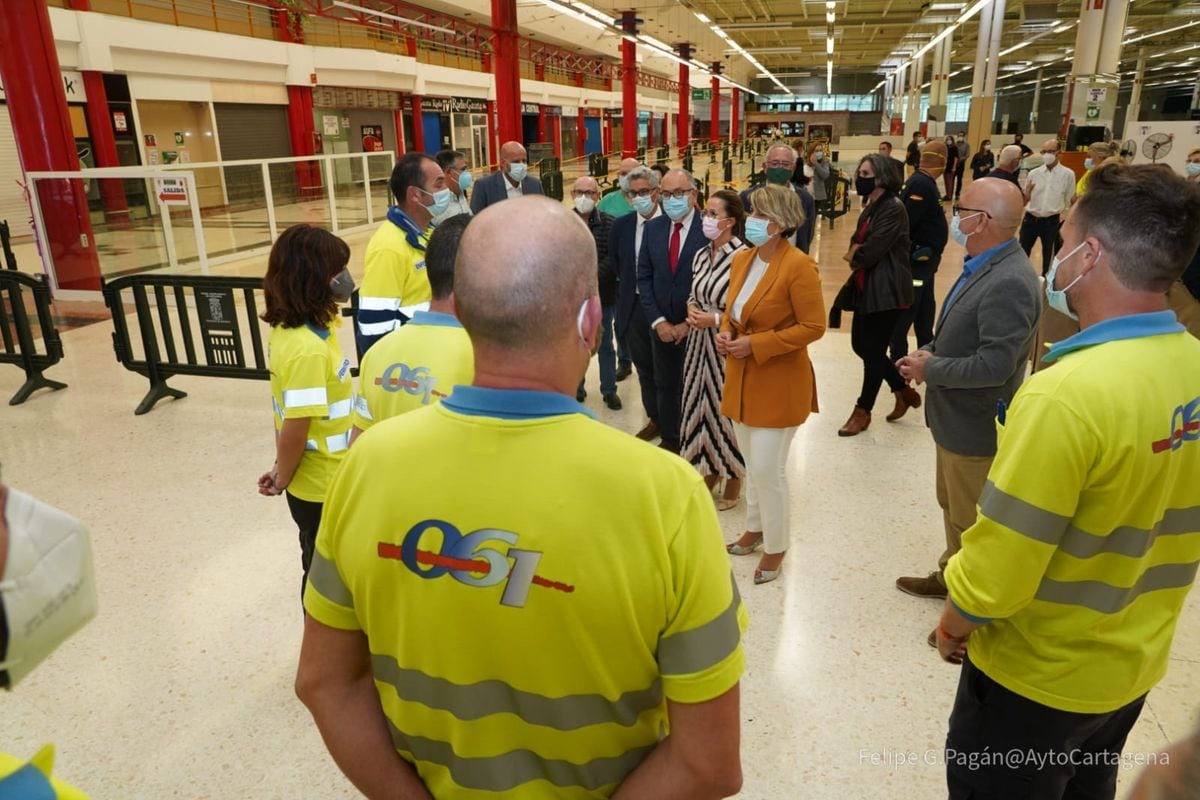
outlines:
[[[674,222],[661,213],[646,223],[642,252],[637,254],[637,291],[647,324],[653,324],[659,317],[665,317],[672,325],[688,319],[691,263],[696,260],[696,251],[708,245],[700,222],[700,211],[694,210],[688,237],[679,242],[679,260],[674,275],[671,275],[671,263],[667,259]]]

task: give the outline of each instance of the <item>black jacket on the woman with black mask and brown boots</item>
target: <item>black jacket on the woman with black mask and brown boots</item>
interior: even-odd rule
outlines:
[[[908,213],[895,194],[872,201],[858,217],[852,242],[859,242],[850,279],[859,283],[854,311],[874,314],[912,305]],[[862,271],[862,275],[859,275]]]

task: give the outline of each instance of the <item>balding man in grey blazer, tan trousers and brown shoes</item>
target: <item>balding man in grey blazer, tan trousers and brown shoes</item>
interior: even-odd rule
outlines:
[[[934,341],[900,359],[900,374],[925,383],[925,421],[937,446],[937,504],[946,552],[928,577],[896,581],[917,597],[946,597],[942,569],[962,547],[996,455],[996,420],[1025,379],[1042,314],[1042,287],[1016,241],[1021,192],[1008,181],[967,186],[958,216],[962,275],[946,296]],[[966,241],[962,241],[962,240]]]

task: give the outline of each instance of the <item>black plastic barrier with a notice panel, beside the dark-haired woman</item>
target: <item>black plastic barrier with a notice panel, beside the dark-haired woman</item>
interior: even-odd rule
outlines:
[[[239,277],[131,275],[106,282],[104,302],[113,312],[116,360],[150,380],[150,391],[133,413],[145,414],[163,397],[187,397],[187,392],[167,385],[174,375],[269,380],[254,299],[254,291],[262,288],[262,278]],[[238,313],[239,294],[245,303],[244,317]],[[133,303],[137,315],[140,357],[125,318],[126,302]],[[244,323],[250,333],[248,353]],[[197,338],[203,351],[197,350]]]

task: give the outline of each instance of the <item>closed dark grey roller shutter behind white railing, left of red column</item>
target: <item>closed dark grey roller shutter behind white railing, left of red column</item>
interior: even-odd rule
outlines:
[[[292,155],[288,112],[284,106],[214,103],[221,161],[286,158]],[[263,204],[263,175],[259,167],[229,167],[224,170],[232,206]],[[296,193],[295,168],[271,167],[271,193],[276,204],[290,201]]]

